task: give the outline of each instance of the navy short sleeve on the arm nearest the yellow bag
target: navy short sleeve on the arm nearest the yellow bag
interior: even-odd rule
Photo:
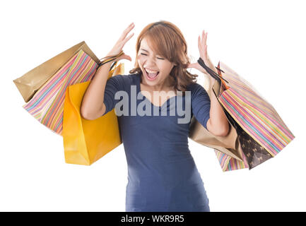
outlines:
[[[114,99],[114,95],[120,90],[124,90],[124,78],[122,75],[112,76],[107,80],[103,100],[106,109],[103,115],[114,109],[114,106],[119,102],[119,100]]]

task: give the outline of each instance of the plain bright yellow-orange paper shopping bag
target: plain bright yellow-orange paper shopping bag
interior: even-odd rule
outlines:
[[[119,64],[108,78],[123,73],[124,66]],[[115,109],[95,120],[81,117],[81,102],[89,84],[87,81],[66,89],[62,131],[66,163],[91,165],[122,143]]]

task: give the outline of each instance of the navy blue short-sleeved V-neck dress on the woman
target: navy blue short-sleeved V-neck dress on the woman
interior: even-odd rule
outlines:
[[[105,114],[117,102],[129,105],[129,114],[118,116],[128,165],[126,211],[209,211],[204,183],[188,146],[190,120],[179,124],[178,119],[186,116],[177,110],[175,115],[170,114],[179,98],[183,109],[186,107],[186,97],[170,97],[158,107],[140,93],[140,83],[141,73],[113,76],[107,81],[104,95]],[[120,90],[129,95],[128,100],[115,97]],[[189,114],[206,127],[211,106],[206,90],[198,83],[190,84],[187,90],[191,91]],[[141,100],[131,98],[135,92]],[[135,105],[151,107],[152,114],[131,115]],[[153,111],[160,112],[159,116],[153,116]]]

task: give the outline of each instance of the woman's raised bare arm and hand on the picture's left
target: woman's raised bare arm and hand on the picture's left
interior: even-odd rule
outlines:
[[[107,54],[107,56],[117,56],[122,51],[124,44],[134,35],[132,33],[129,37],[126,35],[134,28],[134,23],[131,23],[128,28],[124,30],[119,40],[116,42],[112,50]],[[115,61],[119,61],[120,59],[128,59],[131,61],[131,57],[123,54],[122,56],[115,59]],[[114,61],[114,60],[113,60]],[[86,93],[83,96],[83,100],[81,103],[81,116],[84,119],[93,120],[98,119],[105,113],[105,104],[104,93],[105,86],[107,83],[107,78],[110,71],[110,66],[112,62],[107,62],[100,66],[98,71],[95,73],[93,80],[90,81]]]

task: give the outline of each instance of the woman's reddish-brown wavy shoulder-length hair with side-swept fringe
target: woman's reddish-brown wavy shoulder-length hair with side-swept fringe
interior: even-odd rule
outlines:
[[[134,69],[131,69],[129,73],[142,73],[137,56],[141,40],[144,37],[150,41],[156,54],[176,64],[170,71],[172,87],[175,90],[183,91],[184,95],[184,91],[187,90],[187,85],[196,82],[198,75],[187,71],[187,65],[190,64],[189,57],[187,56],[187,42],[180,29],[173,23],[165,20],[146,25],[137,38],[136,61]]]

